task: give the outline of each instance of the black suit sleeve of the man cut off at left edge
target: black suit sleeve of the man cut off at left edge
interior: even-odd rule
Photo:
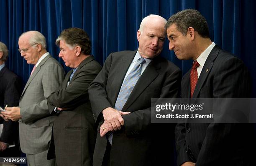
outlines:
[[[21,80],[18,77],[13,77],[13,79],[10,80],[5,89],[4,105],[8,104],[9,107],[18,106],[21,86]],[[15,121],[3,121],[3,131],[0,141],[7,144],[12,144],[17,136],[17,127],[18,124]]]

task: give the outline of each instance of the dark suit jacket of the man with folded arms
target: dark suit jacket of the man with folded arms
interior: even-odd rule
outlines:
[[[54,121],[54,139],[51,139],[48,152],[48,159],[50,159],[50,154],[55,148],[58,166],[92,165],[96,127],[88,97],[88,87],[101,68],[92,56],[87,57],[77,67],[69,86],[67,87],[67,82],[73,70],[67,73],[59,90],[48,98],[51,111],[55,106],[69,108],[61,111]]]

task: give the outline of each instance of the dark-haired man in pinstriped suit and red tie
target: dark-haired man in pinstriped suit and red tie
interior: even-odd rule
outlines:
[[[183,10],[166,23],[169,49],[182,60],[193,59],[182,78],[182,98],[249,98],[251,82],[244,63],[210,40],[205,18]],[[249,166],[249,125],[177,124],[178,166]],[[254,140],[255,141],[255,140]]]

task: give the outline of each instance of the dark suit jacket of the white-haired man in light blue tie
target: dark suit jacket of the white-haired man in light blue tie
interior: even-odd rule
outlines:
[[[90,85],[89,97],[98,131],[104,120],[102,110],[115,107],[123,79],[135,55],[136,51],[111,53]],[[180,78],[180,69],[163,57],[155,57],[148,64],[122,109],[131,114],[123,116],[124,127],[113,134],[111,166],[172,163],[173,130],[168,127],[172,125],[151,124],[151,98],[177,97]],[[101,166],[106,145],[106,137],[100,137],[98,132],[93,156],[94,166]]]

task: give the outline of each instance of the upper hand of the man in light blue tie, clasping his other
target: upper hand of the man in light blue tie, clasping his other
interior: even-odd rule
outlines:
[[[122,112],[111,107],[105,108],[102,111],[104,117],[104,123],[110,123],[112,128],[117,131],[120,130],[121,127],[124,125],[124,120],[121,115],[130,114],[131,112]]]

